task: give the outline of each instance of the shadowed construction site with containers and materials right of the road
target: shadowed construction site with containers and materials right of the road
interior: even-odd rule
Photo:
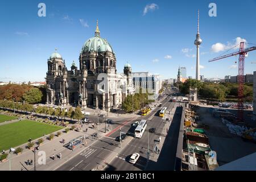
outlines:
[[[236,113],[207,105],[185,109],[183,170],[215,170],[256,151],[255,122],[241,122]]]

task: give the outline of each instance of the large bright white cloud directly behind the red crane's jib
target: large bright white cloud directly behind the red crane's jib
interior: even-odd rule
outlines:
[[[246,43],[247,41],[245,39],[242,39],[240,37],[237,37],[236,39],[234,39],[235,42],[232,44],[232,43],[226,43],[226,44],[222,44],[222,43],[216,43],[216,44],[213,44],[212,45],[212,51],[213,52],[220,52],[220,51],[225,51],[225,50],[228,50],[228,49],[232,49],[236,46],[236,48],[239,48],[239,44],[240,42],[245,42],[245,47],[246,47]]]

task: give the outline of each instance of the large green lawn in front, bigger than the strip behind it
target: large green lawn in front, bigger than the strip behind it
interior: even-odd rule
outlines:
[[[0,151],[28,143],[30,138],[34,140],[60,129],[63,127],[31,120],[2,125],[0,126]]]

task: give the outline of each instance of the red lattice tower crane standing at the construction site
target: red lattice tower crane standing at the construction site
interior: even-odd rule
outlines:
[[[244,70],[245,70],[245,57],[247,56],[248,52],[254,51],[254,50],[256,50],[256,46],[245,49],[245,43],[241,42],[239,51],[230,53],[228,55],[215,57],[208,61],[208,62],[212,62],[212,61],[224,59],[226,57],[239,55],[238,77],[237,77],[237,82],[238,82],[238,112],[237,112],[237,115],[238,115],[238,119],[240,119],[240,121],[243,121],[243,82],[244,82],[243,75],[244,75]]]

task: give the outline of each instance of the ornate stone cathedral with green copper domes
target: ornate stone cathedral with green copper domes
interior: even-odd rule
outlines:
[[[121,106],[127,95],[134,94],[131,65],[117,73],[112,46],[101,38],[97,27],[79,55],[79,69],[73,61],[68,71],[65,60],[56,51],[48,59],[47,104],[92,107],[110,111]]]

